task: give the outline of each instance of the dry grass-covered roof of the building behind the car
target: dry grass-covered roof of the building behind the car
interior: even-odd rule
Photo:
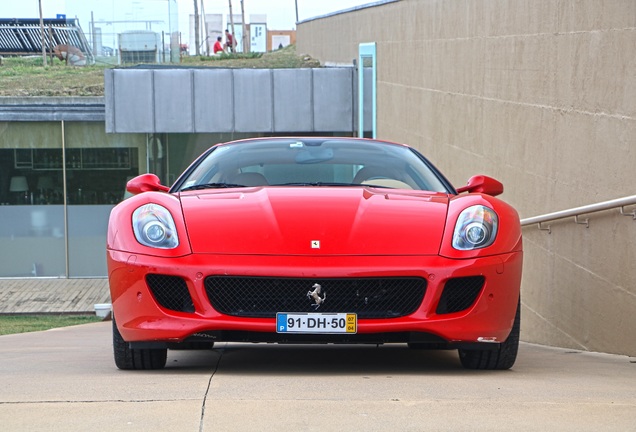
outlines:
[[[295,47],[290,45],[265,54],[183,57],[181,66],[280,69],[319,67],[320,64],[311,57],[298,56]],[[110,67],[115,66],[100,59],[95,65],[84,67],[66,66],[53,59],[43,68],[39,57],[3,58],[0,96],[103,96],[104,69]]]

